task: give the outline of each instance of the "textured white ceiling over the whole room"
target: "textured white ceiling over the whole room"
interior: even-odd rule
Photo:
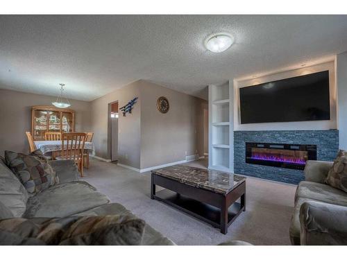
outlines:
[[[226,31],[223,53],[203,41]],[[205,87],[347,50],[347,16],[0,15],[0,87],[91,101],[144,79],[206,98]]]

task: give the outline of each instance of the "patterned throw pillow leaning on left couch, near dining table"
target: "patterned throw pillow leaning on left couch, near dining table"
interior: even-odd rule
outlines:
[[[30,155],[6,150],[5,159],[28,193],[34,194],[59,183],[56,172],[40,150]]]

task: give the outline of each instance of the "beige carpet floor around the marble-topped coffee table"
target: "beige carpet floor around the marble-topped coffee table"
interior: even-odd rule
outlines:
[[[205,167],[200,160],[188,163]],[[294,207],[294,185],[247,178],[246,211],[223,235],[207,223],[149,198],[150,173],[137,173],[92,159],[83,180],[146,220],[178,245],[217,245],[230,239],[254,245],[289,245],[289,223]]]

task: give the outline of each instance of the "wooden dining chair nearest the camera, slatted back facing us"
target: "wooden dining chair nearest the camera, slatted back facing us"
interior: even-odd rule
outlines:
[[[83,155],[85,148],[85,132],[64,132],[62,133],[61,156],[56,159],[73,159],[83,177]]]

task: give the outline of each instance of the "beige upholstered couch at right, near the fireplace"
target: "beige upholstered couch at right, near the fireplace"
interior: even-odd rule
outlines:
[[[332,162],[307,161],[289,230],[293,245],[346,245],[347,193],[325,184]]]

